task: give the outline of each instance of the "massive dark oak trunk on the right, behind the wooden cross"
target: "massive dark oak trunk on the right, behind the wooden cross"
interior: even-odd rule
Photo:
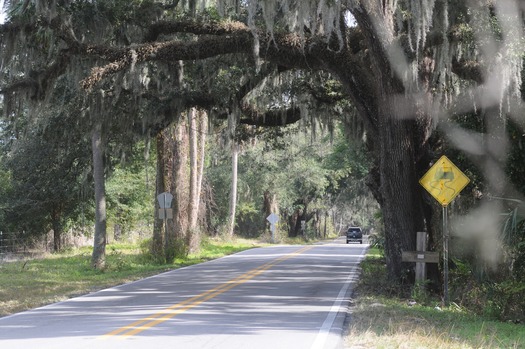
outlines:
[[[367,42],[374,79],[365,76],[359,90],[366,90],[356,94],[352,93],[357,91],[354,78],[344,70],[334,69],[350,87],[350,97],[370,134],[369,146],[375,165],[367,184],[382,209],[387,271],[395,282],[404,276],[402,251],[414,251],[417,231],[425,230],[416,169],[423,158],[429,118],[418,110],[416,98],[420,95],[407,93],[406,85],[411,82],[403,81],[399,73],[405,61],[396,56],[399,52],[394,50],[397,43],[392,3],[375,3],[375,6],[363,4],[361,10],[355,12]],[[412,88],[417,90],[420,86]]]

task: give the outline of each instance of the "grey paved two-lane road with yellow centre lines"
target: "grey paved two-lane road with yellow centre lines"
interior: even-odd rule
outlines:
[[[0,318],[0,347],[338,348],[366,245],[256,248]]]

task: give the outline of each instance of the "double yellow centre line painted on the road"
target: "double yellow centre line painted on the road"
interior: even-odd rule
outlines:
[[[164,321],[167,321],[191,308],[194,308],[198,306],[199,304],[206,302],[207,300],[210,300],[232,288],[235,286],[238,286],[240,284],[245,283],[246,281],[253,279],[257,275],[263,273],[264,271],[270,269],[274,265],[281,263],[287,259],[290,259],[292,257],[295,257],[301,253],[304,253],[311,249],[312,246],[306,246],[303,247],[293,253],[284,255],[282,257],[279,257],[271,262],[268,262],[266,264],[263,264],[255,269],[250,270],[249,272],[242,274],[241,276],[238,276],[234,279],[231,279],[227,282],[225,282],[222,285],[219,285],[209,291],[206,291],[204,293],[201,293],[197,296],[191,297],[185,301],[182,301],[180,303],[174,304],[156,314],[150,315],[146,318],[143,318],[141,320],[135,321],[129,325],[126,325],[124,327],[118,328],[114,331],[111,331],[105,335],[103,335],[101,338],[108,338],[108,337],[114,337],[114,336],[120,336],[120,337],[130,337],[134,336],[142,331],[145,331],[149,328],[152,328],[153,326],[156,326]]]

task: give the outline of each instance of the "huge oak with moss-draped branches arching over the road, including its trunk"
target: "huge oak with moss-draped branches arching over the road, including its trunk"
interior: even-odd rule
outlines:
[[[8,6],[9,20],[0,27],[8,116],[21,97],[42,105],[65,76],[76,82],[92,118],[107,122],[121,111],[127,116],[115,118],[116,125],[128,130],[158,131],[179,115],[174,111],[190,106],[268,126],[312,113],[330,120],[340,109],[320,106],[336,96],[313,86],[320,75],[336,79],[364,124],[373,159],[368,185],[382,208],[393,279],[401,277],[401,252],[415,248],[417,231],[428,231],[437,246],[435,207],[418,179],[443,139],[478,166],[487,193],[521,197],[504,172],[507,125],[523,125],[519,1],[12,0]],[[177,74],[181,61],[191,74]],[[219,72],[234,67],[242,67],[237,81],[228,80],[235,87],[220,88]],[[302,81],[300,89],[277,88],[290,79]],[[265,85],[275,93],[261,93]],[[468,113],[481,116],[482,131],[455,121]]]

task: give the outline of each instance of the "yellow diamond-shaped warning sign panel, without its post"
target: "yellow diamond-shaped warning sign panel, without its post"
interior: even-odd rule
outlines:
[[[419,180],[442,206],[448,206],[469,182],[470,179],[445,155]]]

